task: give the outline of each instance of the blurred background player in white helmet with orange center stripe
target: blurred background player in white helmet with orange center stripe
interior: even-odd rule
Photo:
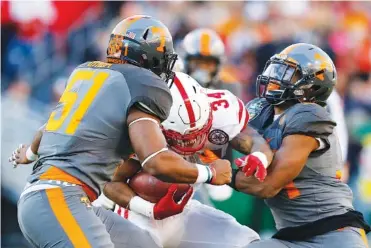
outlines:
[[[202,87],[229,90],[240,97],[241,85],[220,73],[225,60],[224,44],[214,30],[202,28],[189,32],[182,48],[185,72]]]

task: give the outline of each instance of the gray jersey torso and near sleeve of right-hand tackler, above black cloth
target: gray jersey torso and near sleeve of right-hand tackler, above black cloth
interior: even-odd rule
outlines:
[[[350,188],[336,177],[342,168],[341,151],[333,133],[335,123],[327,111],[317,104],[296,104],[273,123],[272,129],[274,126],[281,127],[281,135],[269,136],[266,131],[265,138],[276,139],[272,143],[279,144],[294,134],[319,138],[325,143],[325,148],[309,156],[306,166],[286,189],[266,200],[277,229],[353,210]]]

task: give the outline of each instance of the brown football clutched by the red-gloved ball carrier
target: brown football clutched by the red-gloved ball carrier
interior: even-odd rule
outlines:
[[[165,196],[170,185],[171,183],[165,183],[144,171],[138,172],[129,181],[129,186],[138,196],[152,203],[157,203]],[[180,201],[190,187],[189,184],[178,184],[174,200]]]

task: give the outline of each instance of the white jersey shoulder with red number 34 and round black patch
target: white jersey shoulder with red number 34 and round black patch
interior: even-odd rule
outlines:
[[[213,111],[213,123],[205,149],[225,155],[228,142],[245,129],[249,114],[238,97],[228,90],[206,89]]]

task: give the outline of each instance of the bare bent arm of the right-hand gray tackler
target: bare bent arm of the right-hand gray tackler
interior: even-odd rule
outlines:
[[[310,153],[318,147],[319,143],[313,137],[298,134],[286,136],[275,153],[264,182],[246,177],[242,171],[238,171],[234,186],[246,194],[272,198],[299,175]]]

